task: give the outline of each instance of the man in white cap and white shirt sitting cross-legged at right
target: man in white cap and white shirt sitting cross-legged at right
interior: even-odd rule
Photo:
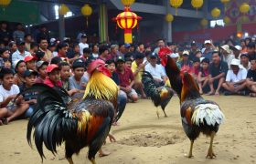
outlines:
[[[240,65],[239,59],[232,59],[230,63],[231,70],[228,71],[226,82],[222,84],[227,91],[224,95],[245,95],[245,79],[247,70]]]

